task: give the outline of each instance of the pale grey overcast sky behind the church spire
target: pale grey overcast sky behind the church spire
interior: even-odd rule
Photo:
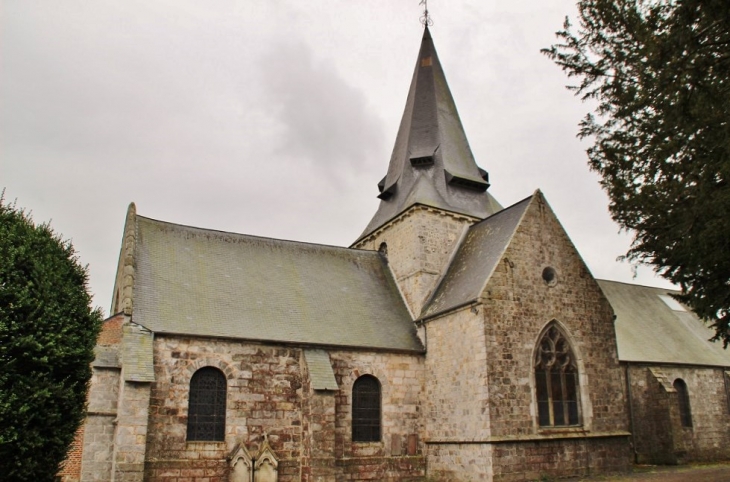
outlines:
[[[439,1],[431,33],[490,192],[540,188],[594,276],[616,258],[590,109],[539,50],[575,0]],[[0,0],[0,187],[52,221],[108,311],[125,213],[347,246],[374,214],[420,46],[418,0]]]

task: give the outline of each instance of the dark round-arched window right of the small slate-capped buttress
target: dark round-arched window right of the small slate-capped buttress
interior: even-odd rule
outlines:
[[[380,382],[370,375],[352,385],[352,441],[380,441]]]

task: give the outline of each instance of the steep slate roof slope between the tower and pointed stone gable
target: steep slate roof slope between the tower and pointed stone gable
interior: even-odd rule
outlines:
[[[530,196],[469,227],[421,318],[479,298],[533,198]]]

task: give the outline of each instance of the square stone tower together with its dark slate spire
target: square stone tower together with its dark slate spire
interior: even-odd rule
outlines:
[[[378,211],[354,248],[380,250],[418,317],[465,229],[502,209],[487,192],[425,28]]]

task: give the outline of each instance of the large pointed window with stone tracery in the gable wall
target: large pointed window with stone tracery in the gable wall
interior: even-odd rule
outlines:
[[[555,325],[537,345],[535,389],[541,427],[580,424],[578,366],[568,340]]]

